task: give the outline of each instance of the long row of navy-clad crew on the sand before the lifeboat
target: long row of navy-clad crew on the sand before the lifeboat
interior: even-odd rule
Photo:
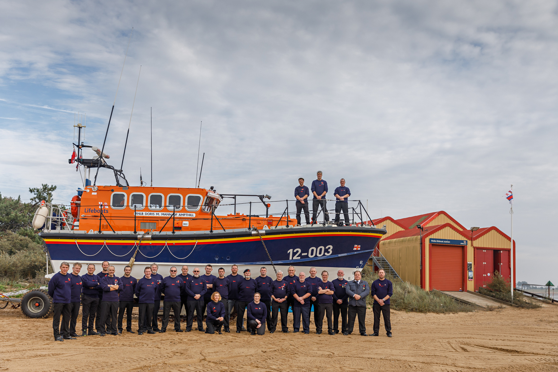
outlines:
[[[358,317],[360,335],[368,336],[364,325],[366,298],[372,295],[373,336],[378,336],[382,313],[387,336],[391,337],[389,297],[392,296],[393,289],[382,269],[378,272],[379,279],[371,286],[362,279],[359,270],[354,272],[352,281],[344,279],[343,270],[338,270],[337,278],[329,281],[326,270],[321,272],[320,278],[316,275],[316,268],[311,268],[310,276],[306,277],[304,272],[296,275],[292,266],[288,268],[286,276],[278,271],[275,280],[267,276],[266,267],[262,267],[259,276],[254,279],[250,269],[244,270],[243,275],[240,275],[237,265],[232,265],[231,273],[226,277],[224,268],[218,269],[218,277],[211,274],[213,267],[209,264],[205,266],[205,274],[201,274],[198,267],[189,274],[186,265],[182,266],[181,273],[178,274],[177,268],[173,266],[170,268],[170,275],[163,278],[157,273],[158,265],[153,263],[144,269],[145,275],[139,280],[131,276],[132,268],[129,266],[124,267],[122,277],[117,277],[114,266],[106,261],[102,263],[102,271],[97,274],[94,273],[94,264],[87,265],[87,273],[83,276],[79,275],[80,263],[74,263],[71,272],[69,269],[70,264],[62,262],[60,272],[49,282],[49,294],[54,302],[52,327],[56,341],[75,340],[78,336],[121,335],[124,315],[126,331],[135,333],[132,330],[134,294],[138,300],[138,335],[165,333],[171,310],[174,313],[174,330],[184,332],[180,324],[182,306],[186,309],[186,332],[193,330],[194,312],[198,331],[208,334],[222,334],[222,330],[230,332],[230,314],[235,308],[237,333],[248,331],[252,335],[263,335],[266,326],[268,332],[274,333],[279,313],[281,331],[289,333],[287,315],[291,307],[292,331],[309,334],[313,306],[316,334],[322,333],[324,316],[327,318],[329,335],[339,332],[343,335],[352,334]],[[159,328],[157,317],[161,298],[163,316]],[[81,335],[76,332],[80,305]]]

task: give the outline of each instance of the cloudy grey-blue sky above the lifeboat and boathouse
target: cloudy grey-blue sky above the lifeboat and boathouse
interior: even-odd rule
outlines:
[[[284,204],[298,177],[309,184],[321,170],[330,189],[344,177],[373,219],[444,210],[509,234],[513,184],[517,281],[557,283],[557,10],[548,0],[3,1],[0,192],[28,199],[49,183],[68,202],[81,183],[68,164],[74,120],[102,147],[114,103],[105,152],[118,168],[129,125],[131,185],[152,170],[154,186],[193,187],[200,122],[200,186],[223,194]],[[99,172],[98,183],[114,178]]]

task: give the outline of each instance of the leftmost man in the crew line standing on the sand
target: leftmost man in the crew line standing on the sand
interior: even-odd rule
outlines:
[[[54,329],[54,339],[56,341],[75,340],[70,336],[70,299],[71,299],[71,277],[68,270],[70,264],[62,262],[60,272],[54,274],[49,281],[49,296],[54,302],[52,312],[52,328]],[[60,316],[62,316],[62,326],[60,326]],[[60,334],[62,332],[62,335]],[[64,336],[64,338],[62,338]]]

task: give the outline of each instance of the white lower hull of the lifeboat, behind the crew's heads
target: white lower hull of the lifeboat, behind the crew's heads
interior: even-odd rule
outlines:
[[[69,272],[71,272],[72,268],[71,266],[73,265],[73,262],[68,261],[70,263],[70,270]],[[57,273],[60,271],[60,264],[62,263],[61,260],[52,260],[52,267],[49,268],[49,275],[47,275],[47,277],[52,277],[52,269],[54,268],[54,273]],[[95,274],[97,274],[98,272],[102,271],[102,267],[101,264],[102,262],[100,261],[90,261],[90,262],[81,262],[81,264],[83,264],[83,267],[81,267],[81,271],[80,271],[80,275],[84,275],[85,273],[87,273],[87,267],[86,265],[89,263],[93,263],[95,264]],[[124,267],[128,264],[128,262],[111,262],[111,265],[114,266],[114,269],[116,269],[116,272],[114,273],[116,276],[118,277],[122,277],[124,275]],[[143,269],[145,269],[146,266],[151,265],[152,262],[135,262],[132,266],[132,276],[140,279],[143,277]],[[181,273],[181,268],[182,265],[187,265],[188,267],[188,273],[191,275],[193,274],[194,268],[198,267],[200,269],[200,274],[205,274],[205,263],[157,263],[159,265],[158,274],[161,274],[163,277],[167,277],[170,275],[170,268],[172,266],[177,267],[178,269],[178,273]],[[229,274],[231,274],[232,272],[230,271],[230,267],[233,264],[217,264],[217,265],[213,265],[213,271],[211,271],[211,274],[213,274],[214,276],[219,276],[218,274],[218,269],[220,267],[225,269],[225,277],[228,276]],[[271,264],[266,264],[266,265],[238,265],[238,273],[240,275],[243,274],[244,270],[246,269],[250,269],[251,272],[251,277],[252,278],[256,278],[257,276],[259,276],[259,270],[262,268],[262,266],[267,268],[267,276],[275,279],[275,272],[273,271],[273,267]],[[298,274],[301,271],[304,271],[306,273],[306,277],[309,277],[310,274],[310,268],[311,266],[296,266],[294,265],[295,270],[296,270],[296,275],[298,276]],[[288,266],[285,265],[275,265],[275,268],[277,269],[277,271],[281,270],[283,272],[283,277],[288,275]],[[362,267],[361,267],[362,268]],[[349,268],[349,267],[316,267],[316,270],[318,271],[318,273],[316,274],[316,276],[321,278],[321,272],[323,270],[328,271],[329,274],[329,281],[332,281],[333,279],[337,278],[337,271],[339,269],[343,270],[345,276],[344,278],[347,279],[348,281],[352,280],[354,278],[354,272],[355,270],[361,269],[361,268]]]

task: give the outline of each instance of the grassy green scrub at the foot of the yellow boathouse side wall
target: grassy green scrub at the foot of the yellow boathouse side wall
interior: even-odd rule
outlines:
[[[363,279],[372,284],[378,279],[378,273],[372,272],[368,267],[362,270]],[[478,310],[479,308],[466,305],[465,303],[455,301],[455,299],[446,296],[443,293],[432,291],[428,292],[415,284],[403,282],[401,279],[386,276],[393,284],[393,296],[389,298],[389,307],[393,310],[415,311],[415,312],[435,312],[435,313],[455,313],[469,312]],[[374,303],[374,298],[368,296],[367,302],[369,306]]]

